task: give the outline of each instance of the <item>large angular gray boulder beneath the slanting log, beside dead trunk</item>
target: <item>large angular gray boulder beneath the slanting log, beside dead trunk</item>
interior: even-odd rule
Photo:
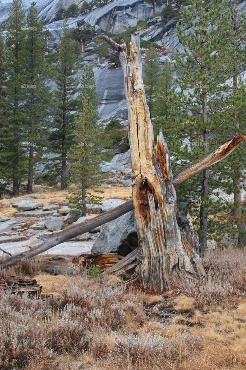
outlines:
[[[107,222],[92,246],[91,252],[117,252],[126,256],[137,248],[137,226],[134,211]]]

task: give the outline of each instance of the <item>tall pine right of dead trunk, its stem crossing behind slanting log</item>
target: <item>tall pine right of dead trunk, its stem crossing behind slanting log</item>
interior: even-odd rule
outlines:
[[[177,100],[181,106],[189,108],[197,115],[189,120],[189,125],[183,126],[183,130],[188,132],[189,126],[192,129],[191,136],[194,133],[202,135],[203,152],[208,152],[211,145],[209,133],[216,131],[220,124],[218,120],[214,120],[211,97],[221,98],[221,84],[226,79],[228,70],[228,65],[225,65],[226,53],[231,51],[230,43],[226,41],[230,15],[224,12],[226,9],[224,1],[209,1],[209,8],[206,11],[208,5],[206,1],[191,0],[190,4],[188,8],[182,7],[182,25],[189,26],[190,30],[187,32],[185,27],[182,28],[177,24],[177,36],[184,46],[184,51],[176,58],[175,63],[181,90],[190,92],[187,95],[181,93]],[[194,13],[197,14],[196,18]],[[200,155],[201,151],[194,151],[194,154]],[[201,255],[206,249],[210,191],[209,169],[205,169],[202,173],[199,214]]]

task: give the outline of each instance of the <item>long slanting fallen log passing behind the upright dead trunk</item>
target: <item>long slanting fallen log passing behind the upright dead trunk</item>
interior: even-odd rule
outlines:
[[[174,186],[179,185],[192,176],[198,174],[204,169],[204,166],[212,166],[213,164],[221,161],[221,159],[229,155],[245,138],[246,136],[244,135],[235,136],[234,138],[220,145],[218,148],[213,149],[211,152],[204,154],[201,158],[198,158],[196,161],[180,169],[178,172],[175,172],[172,181]],[[71,225],[55,235],[41,235],[38,238],[44,240],[44,243],[38,243],[37,245],[35,244],[30,250],[11,256],[0,264],[0,268],[14,265],[23,258],[31,258],[37,254],[45,252],[55,245],[66,242],[75,236],[81,235],[82,233],[91,231],[93,228],[103,225],[103,223],[112,221],[113,219],[124,215],[124,213],[127,213],[132,209],[133,200],[130,199],[124,204],[117,206],[116,208],[113,208],[102,215],[96,216],[88,221],[78,223],[77,225]]]

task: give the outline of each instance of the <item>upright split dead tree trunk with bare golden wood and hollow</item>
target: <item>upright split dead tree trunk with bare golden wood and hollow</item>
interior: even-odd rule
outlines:
[[[125,43],[120,54],[120,60],[125,58],[124,68],[127,65]],[[180,286],[187,277],[198,276],[198,271],[192,263],[192,243],[187,243],[188,251],[182,243],[170,157],[161,128],[154,146],[153,126],[144,92],[139,34],[131,35],[130,73],[128,77],[127,65],[124,77],[131,159],[136,175],[133,205],[140,263],[135,277],[141,276],[146,289],[164,292]],[[201,263],[199,273],[205,274]]]

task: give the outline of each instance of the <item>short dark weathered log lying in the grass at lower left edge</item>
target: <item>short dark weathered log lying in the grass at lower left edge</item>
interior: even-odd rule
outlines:
[[[37,283],[35,279],[21,279],[14,276],[4,276],[0,278],[0,291],[7,291],[10,293],[24,293],[28,292],[32,295],[40,295],[42,286]]]

